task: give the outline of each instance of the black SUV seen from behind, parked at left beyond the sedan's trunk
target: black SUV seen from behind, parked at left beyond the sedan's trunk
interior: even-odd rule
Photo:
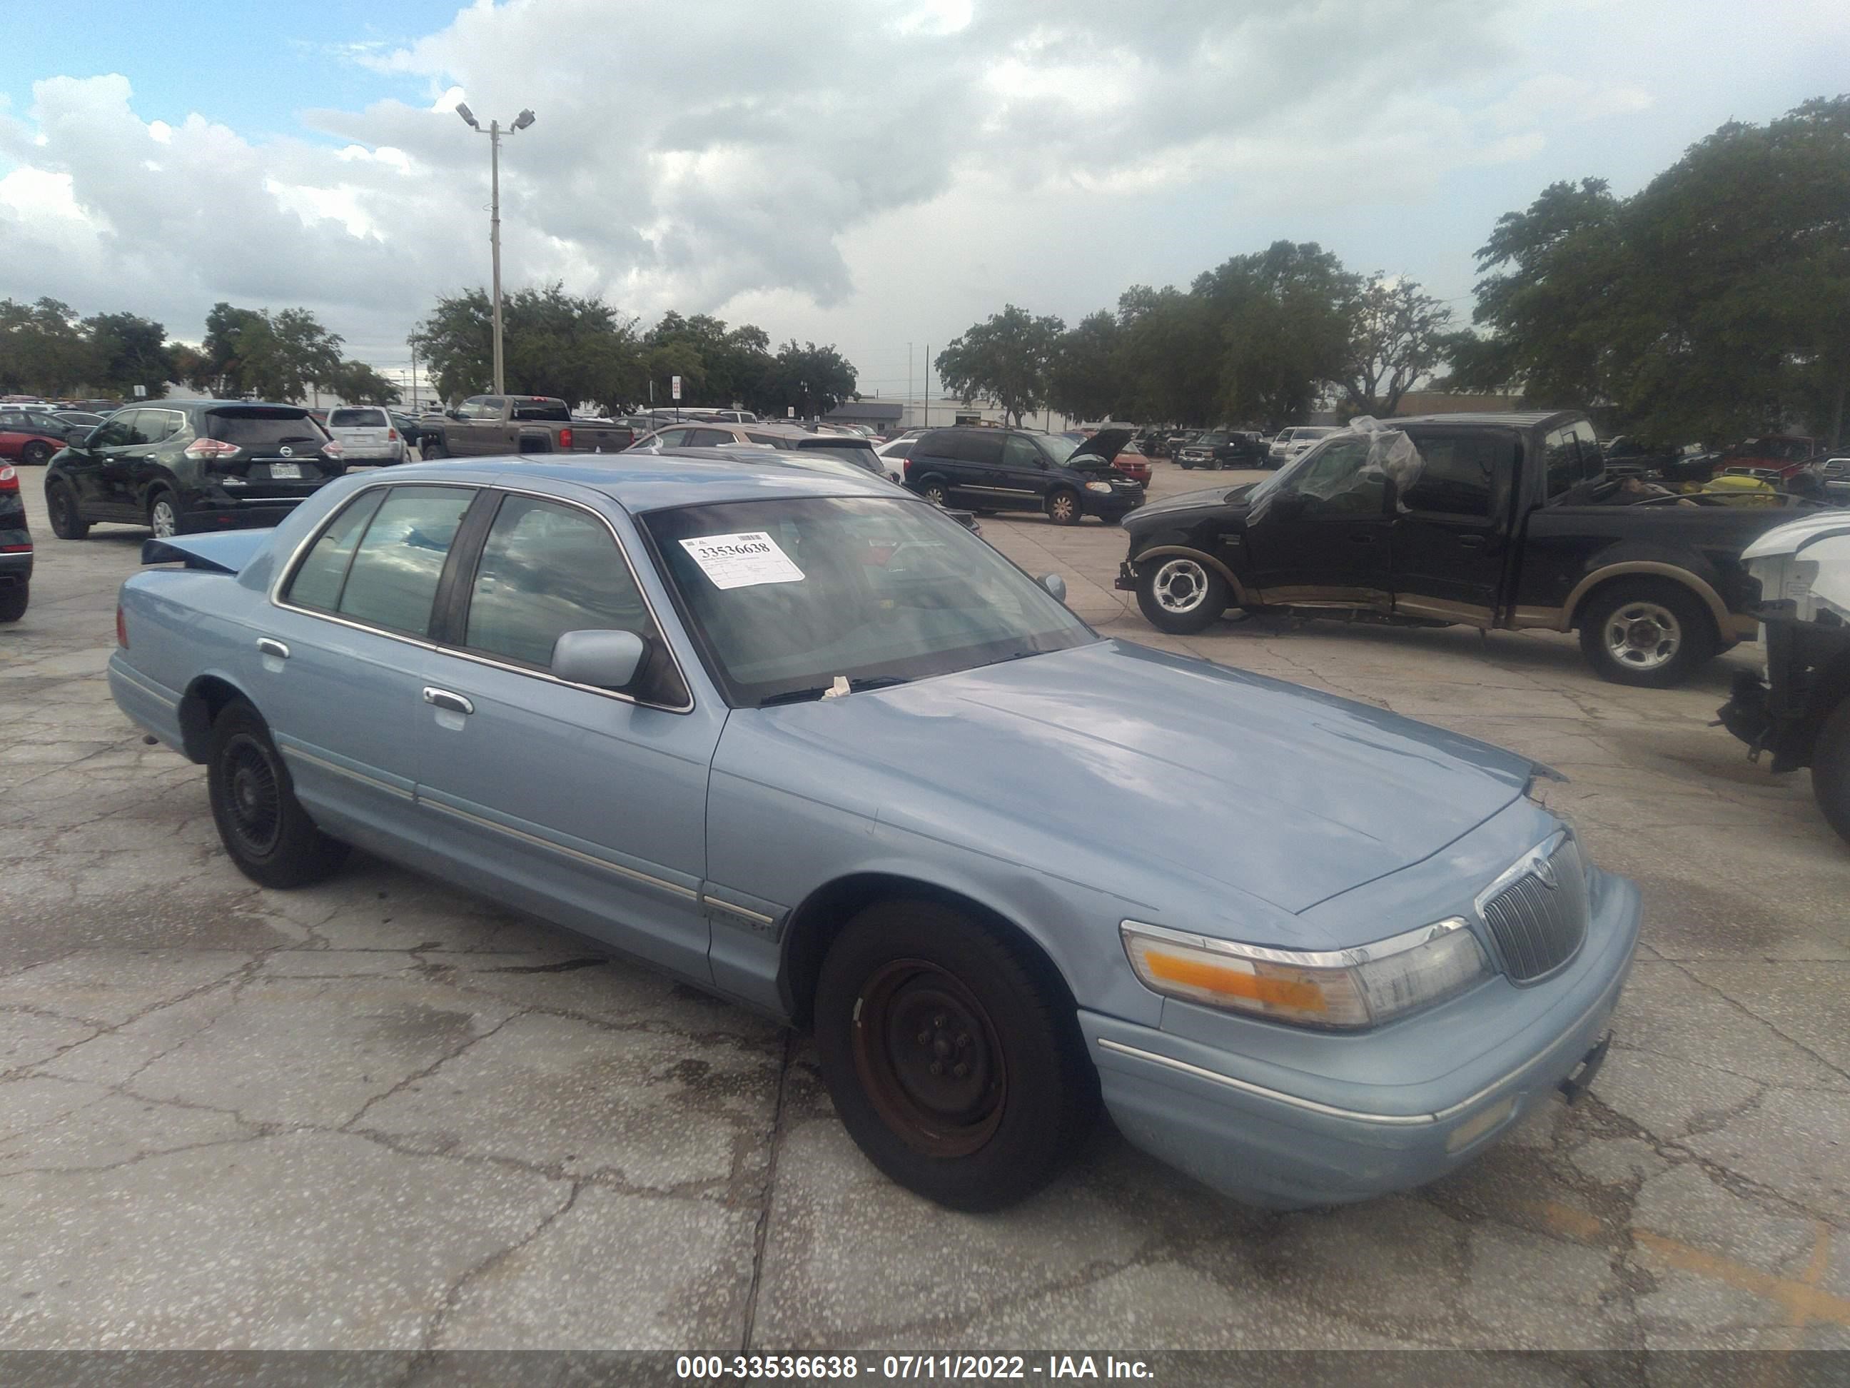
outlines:
[[[44,509],[61,540],[98,520],[163,539],[276,526],[342,472],[340,444],[302,405],[163,400],[117,411],[54,457]]]

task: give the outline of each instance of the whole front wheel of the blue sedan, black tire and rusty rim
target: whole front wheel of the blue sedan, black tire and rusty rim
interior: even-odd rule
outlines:
[[[1073,999],[1023,942],[936,901],[882,901],[842,929],[816,1051],[868,1160],[953,1210],[1040,1190],[1099,1112]]]

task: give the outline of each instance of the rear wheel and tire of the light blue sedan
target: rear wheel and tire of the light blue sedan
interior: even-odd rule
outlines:
[[[213,722],[205,788],[218,840],[253,883],[307,886],[346,861],[348,846],[324,835],[302,809],[270,729],[242,700]]]

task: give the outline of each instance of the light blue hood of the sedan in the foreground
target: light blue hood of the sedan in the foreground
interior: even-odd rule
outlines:
[[[1539,770],[1373,705],[1121,640],[749,716],[786,742],[786,764],[851,755],[882,825],[962,835],[1066,877],[1092,864],[1101,890],[1117,885],[1112,859],[1134,857],[1164,881],[1288,912],[1437,853]],[[997,825],[1019,842],[997,842]],[[1054,849],[1030,842],[1060,857],[1036,861]]]

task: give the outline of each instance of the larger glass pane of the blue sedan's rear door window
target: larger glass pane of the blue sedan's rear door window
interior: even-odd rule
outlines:
[[[353,551],[335,611],[355,622],[427,637],[437,581],[474,498],[468,487],[394,487]]]

